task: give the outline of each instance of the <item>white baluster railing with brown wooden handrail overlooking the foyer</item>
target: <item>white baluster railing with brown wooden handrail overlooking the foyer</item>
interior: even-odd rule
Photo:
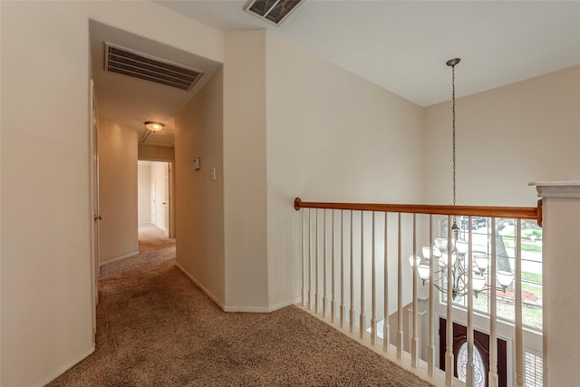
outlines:
[[[467,328],[467,360],[465,362],[466,375],[464,375],[467,380],[466,384],[468,386],[477,385],[474,384],[474,381],[481,376],[481,370],[476,364],[477,356],[475,356],[477,349],[474,345],[474,332],[476,328],[483,331],[488,330],[489,360],[488,364],[485,364],[485,368],[488,369],[485,378],[488,379],[489,386],[500,384],[496,238],[489,238],[488,315],[483,317],[483,321],[486,319],[488,321],[488,329],[481,326],[482,317],[474,311],[474,296],[477,297],[478,294],[474,288],[472,276],[466,276],[466,290],[464,291],[456,286],[455,280],[438,282],[436,280],[437,273],[443,269],[446,271],[446,278],[457,278],[459,274],[454,268],[456,259],[465,260],[464,265],[467,273],[473,273],[476,269],[473,259],[473,233],[470,227],[473,217],[489,218],[491,230],[496,229],[497,218],[516,219],[515,283],[513,285],[515,289],[515,316],[512,329],[513,341],[510,342],[513,343],[514,371],[513,375],[508,376],[508,379],[513,385],[524,384],[521,221],[522,219],[538,218],[537,208],[305,203],[299,198],[295,200],[295,208],[304,208],[301,234],[304,308],[314,310],[314,314],[321,314],[322,310],[323,319],[328,319],[331,323],[336,323],[336,314],[339,314],[337,323],[339,328],[344,328],[348,322],[348,331],[351,334],[355,332],[356,328],[359,329],[358,337],[360,340],[368,340],[375,347],[378,347],[377,344],[382,341],[381,351],[385,356],[388,358],[392,356],[401,365],[420,376],[426,376],[432,381],[439,381],[445,385],[452,385],[457,381],[455,363],[459,353],[454,353],[454,350],[457,351],[457,343],[454,343],[454,323],[458,322],[466,324]],[[329,209],[330,211],[328,211]],[[340,211],[339,233],[336,233],[335,228],[336,211]],[[347,212],[345,213],[345,211]],[[356,213],[360,211],[360,218],[354,217],[353,211],[357,211]],[[440,235],[441,224],[445,225],[446,221],[447,225],[451,225],[452,221],[455,222],[455,219],[459,217],[459,214],[468,217],[468,251],[464,256],[459,257],[457,254],[453,256],[451,248],[448,248],[446,252],[441,254],[438,263],[434,254],[437,249],[433,245],[434,237]],[[322,222],[319,222],[321,215]],[[437,225],[434,223],[434,216],[440,220]],[[327,218],[330,218],[330,221],[327,222]],[[396,232],[390,228],[390,218],[396,218]],[[409,218],[411,218],[411,227],[407,227]],[[454,239],[456,236],[452,234],[451,227],[447,227],[446,234],[448,241],[457,240]],[[428,235],[428,237],[424,237],[424,235]],[[396,239],[395,245],[390,243],[393,239]],[[424,270],[425,267],[428,267],[429,270],[430,279],[426,283],[424,281],[421,283],[419,273],[418,247],[420,242],[426,242],[430,250],[429,265],[421,266],[421,269]],[[403,256],[409,256],[409,253],[412,254],[410,257],[411,271],[403,263]],[[340,261],[336,262],[337,259]],[[389,266],[394,265],[397,266],[396,279],[390,277]],[[381,266],[382,270],[379,270],[378,267]],[[357,271],[359,273],[356,273]],[[485,269],[480,273],[485,273]],[[396,280],[397,283],[396,295],[390,293],[392,280]],[[337,287],[340,289],[340,299],[336,297]],[[440,290],[445,293],[445,296],[441,296],[441,300],[439,299]],[[503,291],[505,292],[505,288]],[[350,294],[349,299],[346,297],[347,292]],[[425,295],[426,292],[428,295]],[[369,294],[370,301],[366,297]],[[427,319],[420,318],[420,294],[421,299],[428,299],[428,313],[425,314],[428,316]],[[467,302],[464,301],[464,305],[458,305],[455,302],[456,295],[465,295]],[[395,299],[396,309],[391,310],[391,300]],[[382,310],[380,310],[381,306]],[[370,307],[370,326],[366,324],[367,307]],[[347,308],[348,315],[346,314]],[[404,329],[403,313],[406,308],[412,310],[407,332]],[[356,318],[357,313],[358,319]],[[392,314],[396,314],[397,321],[394,340],[392,340],[395,353],[391,352],[390,317]],[[437,351],[436,333],[438,330],[435,318],[438,314],[446,321],[445,327],[441,326],[439,330],[442,332],[441,329],[444,329],[446,335],[446,342],[440,343],[443,348],[440,348],[439,352]],[[381,317],[382,321],[379,321]],[[463,319],[466,321],[464,322]],[[479,322],[479,325],[476,324],[476,321]],[[378,329],[379,324],[382,324],[382,330]],[[423,327],[426,328],[425,331],[428,331],[428,334],[420,334]],[[367,332],[370,335],[367,336]],[[405,334],[409,337],[408,342],[404,341]],[[505,336],[506,334],[502,334],[502,337]],[[423,346],[425,353],[421,350]],[[438,367],[441,362],[444,363],[445,372],[441,372],[440,367]]]

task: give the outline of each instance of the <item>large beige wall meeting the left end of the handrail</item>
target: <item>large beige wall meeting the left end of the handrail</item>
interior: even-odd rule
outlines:
[[[274,34],[267,34],[266,42],[268,303],[276,306],[300,295],[302,273],[296,258],[300,256],[301,215],[292,206],[295,197],[337,202],[423,201],[423,110]],[[339,215],[335,214],[336,233],[340,232]],[[326,216],[330,224],[331,214]],[[354,218],[360,225],[360,214]],[[321,226],[323,219],[321,213]],[[382,227],[382,217],[377,223]],[[347,230],[348,224],[347,218]],[[369,214],[365,229],[366,272],[371,259]],[[382,235],[380,229],[378,235]],[[354,232],[355,240],[360,240],[360,226]],[[394,270],[396,251],[391,253]],[[377,254],[381,256],[382,251]],[[360,258],[355,261],[355,277],[360,278]],[[392,295],[395,286],[391,281]]]

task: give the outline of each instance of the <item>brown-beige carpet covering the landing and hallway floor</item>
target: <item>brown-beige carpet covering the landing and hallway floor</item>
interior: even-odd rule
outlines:
[[[139,256],[102,269],[95,353],[49,385],[430,385],[295,306],[222,312],[175,266],[172,240],[140,236]]]

